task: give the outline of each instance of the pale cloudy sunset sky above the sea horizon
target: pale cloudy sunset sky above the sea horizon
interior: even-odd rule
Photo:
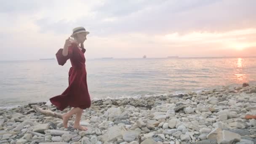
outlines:
[[[256,56],[256,0],[0,0],[0,60],[55,58],[75,27],[87,59]]]

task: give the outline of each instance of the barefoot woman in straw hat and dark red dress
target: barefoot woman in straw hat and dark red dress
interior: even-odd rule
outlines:
[[[83,46],[86,35],[88,34],[89,32],[87,32],[84,27],[73,29],[73,34],[70,37],[74,37],[74,40],[71,40],[69,37],[64,44],[64,48],[59,49],[56,53],[59,65],[63,66],[66,61],[70,59],[72,67],[69,69],[68,88],[61,95],[50,99],[51,103],[61,111],[68,106],[74,107],[62,116],[63,125],[67,128],[69,118],[75,114],[74,128],[83,131],[86,131],[87,128],[80,125],[81,115],[83,109],[91,106],[86,80],[85,48]]]

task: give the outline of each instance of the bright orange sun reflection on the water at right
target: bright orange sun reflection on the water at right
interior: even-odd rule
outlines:
[[[248,82],[246,74],[243,74],[243,59],[237,59],[237,67],[235,69],[236,82]]]

